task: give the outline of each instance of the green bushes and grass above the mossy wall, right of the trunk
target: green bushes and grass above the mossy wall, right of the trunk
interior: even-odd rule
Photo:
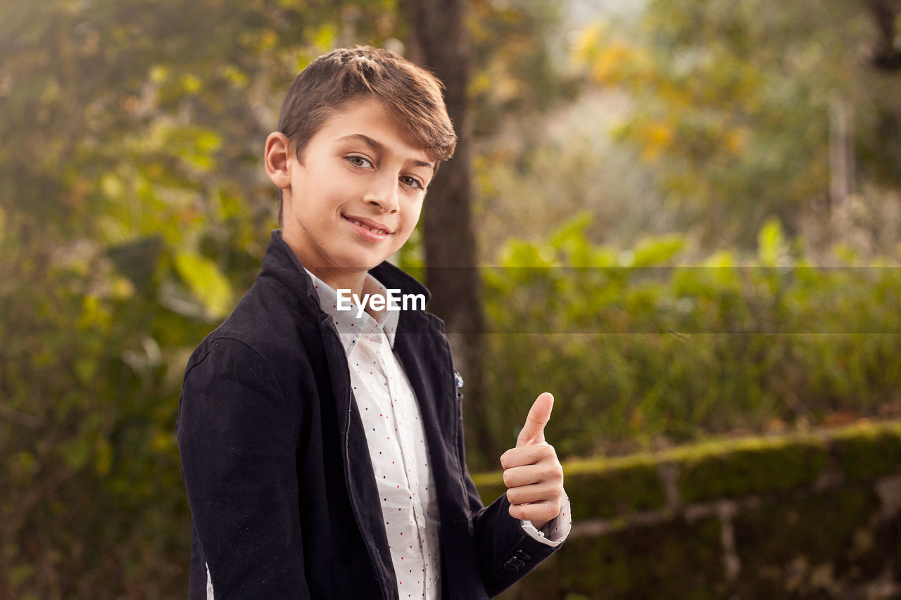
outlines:
[[[510,241],[503,266],[485,269],[499,438],[514,439],[544,390],[558,398],[549,437],[564,456],[896,403],[896,262],[813,268],[773,221],[756,257],[687,266],[678,237],[616,250],[587,241],[588,226],[577,217],[546,241]]]

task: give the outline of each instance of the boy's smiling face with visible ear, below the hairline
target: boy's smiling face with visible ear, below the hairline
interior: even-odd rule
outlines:
[[[404,245],[419,220],[433,161],[381,103],[341,107],[300,160],[293,148],[278,154],[278,141],[270,143],[278,135],[267,141],[267,168],[282,188],[282,236],[301,264],[339,278],[362,275]]]

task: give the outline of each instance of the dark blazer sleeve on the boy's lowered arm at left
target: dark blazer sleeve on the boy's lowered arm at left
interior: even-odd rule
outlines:
[[[216,600],[309,597],[293,421],[267,361],[244,342],[217,339],[189,365],[178,450]]]

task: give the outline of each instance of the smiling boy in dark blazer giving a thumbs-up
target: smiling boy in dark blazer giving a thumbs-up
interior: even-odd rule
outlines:
[[[440,82],[392,52],[334,50],[296,77],[264,155],[281,229],[185,373],[191,598],[487,598],[569,532],[551,395],[483,507],[441,321],[385,262],[455,143]]]

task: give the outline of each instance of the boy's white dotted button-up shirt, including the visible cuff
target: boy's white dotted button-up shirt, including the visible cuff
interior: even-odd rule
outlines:
[[[368,306],[374,316],[367,312],[358,316],[357,305],[340,311],[337,292],[306,272],[313,279],[323,311],[332,316],[347,354],[350,385],[366,432],[398,593],[402,600],[437,600],[441,597],[438,500],[419,405],[393,350],[400,311],[377,311]],[[385,286],[367,274],[363,294],[385,297],[386,292]],[[547,537],[528,521],[523,522],[523,530],[556,546],[569,534],[568,498],[563,511],[561,518],[546,527],[550,529]]]

